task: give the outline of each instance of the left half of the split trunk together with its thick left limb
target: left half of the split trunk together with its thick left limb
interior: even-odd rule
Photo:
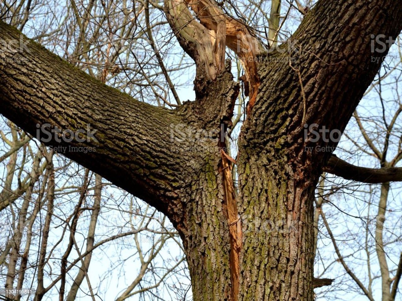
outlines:
[[[0,26],[6,43],[19,39],[14,28]],[[33,42],[27,49],[3,52],[14,59],[0,62],[0,112],[34,136],[37,123],[72,131],[90,124],[98,141],[53,137],[47,144],[66,147],[59,153],[164,212],[183,239],[193,287],[204,291],[204,300],[229,296],[230,238],[218,136],[230,126],[239,91],[230,65],[197,93],[195,102],[167,110],[102,85]],[[20,64],[22,57],[26,61]],[[81,146],[96,149],[69,151]]]

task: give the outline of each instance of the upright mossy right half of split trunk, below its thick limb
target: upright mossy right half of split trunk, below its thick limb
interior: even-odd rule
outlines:
[[[312,300],[314,182],[297,179],[286,158],[250,149],[242,156],[240,300]]]

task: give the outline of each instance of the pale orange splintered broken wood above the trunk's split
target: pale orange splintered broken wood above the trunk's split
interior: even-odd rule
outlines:
[[[263,53],[262,44],[250,28],[228,16],[213,0],[165,0],[165,12],[180,45],[193,57],[197,68],[205,68],[209,79],[215,79],[224,70],[226,46],[238,55],[249,83],[250,110],[260,85],[257,55]]]

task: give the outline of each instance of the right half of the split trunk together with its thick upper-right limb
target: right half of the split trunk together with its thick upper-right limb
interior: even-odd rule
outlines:
[[[313,299],[312,199],[331,155],[325,148],[336,142],[304,139],[302,121],[344,130],[380,67],[371,56],[386,55],[371,53],[371,35],[396,38],[401,10],[393,1],[321,0],[289,41],[293,51],[260,56],[261,84],[237,158],[239,300]]]

